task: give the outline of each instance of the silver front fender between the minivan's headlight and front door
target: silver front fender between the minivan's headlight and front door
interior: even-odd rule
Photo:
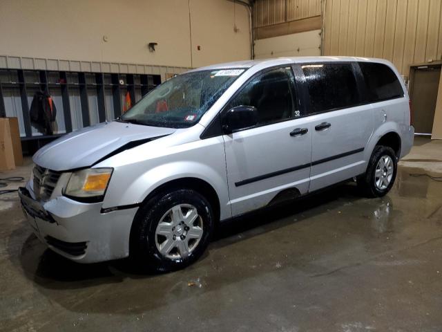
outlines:
[[[220,217],[231,216],[222,137],[200,139],[204,127],[174,133],[124,151],[96,167],[113,167],[103,208],[142,203],[157,187],[180,178],[209,183],[220,199]]]

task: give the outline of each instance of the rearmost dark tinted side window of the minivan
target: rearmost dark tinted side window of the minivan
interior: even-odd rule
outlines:
[[[370,102],[403,97],[403,89],[396,74],[385,64],[359,62]]]

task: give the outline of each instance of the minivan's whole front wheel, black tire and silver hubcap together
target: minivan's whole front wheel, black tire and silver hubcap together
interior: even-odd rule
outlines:
[[[163,192],[137,212],[131,255],[154,270],[178,270],[202,255],[212,230],[213,212],[204,196],[186,189]]]

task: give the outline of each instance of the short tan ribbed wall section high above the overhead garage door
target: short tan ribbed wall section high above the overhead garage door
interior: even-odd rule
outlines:
[[[257,0],[253,5],[255,28],[318,16],[320,6],[320,0]]]

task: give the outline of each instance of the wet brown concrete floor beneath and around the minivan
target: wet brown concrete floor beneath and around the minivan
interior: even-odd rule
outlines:
[[[165,275],[59,257],[1,197],[0,331],[442,331],[442,183],[415,171],[225,225]]]

